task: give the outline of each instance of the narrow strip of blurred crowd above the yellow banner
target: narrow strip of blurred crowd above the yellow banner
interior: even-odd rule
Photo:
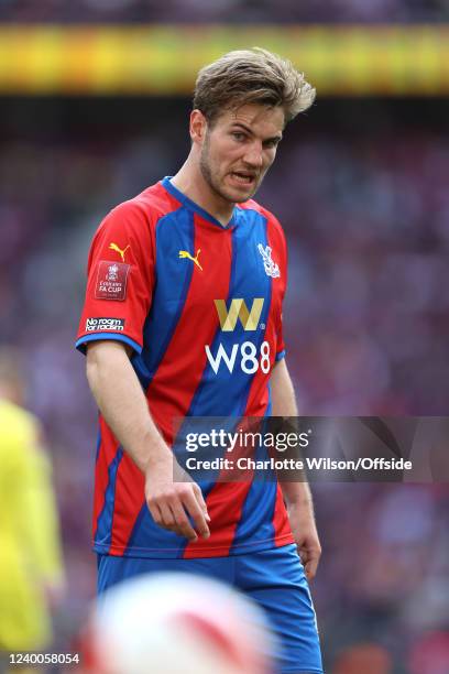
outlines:
[[[11,22],[404,23],[448,18],[448,0],[0,0],[0,20]]]

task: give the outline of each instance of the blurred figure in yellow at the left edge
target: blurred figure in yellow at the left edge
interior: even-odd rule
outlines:
[[[40,423],[20,406],[22,378],[12,349],[0,349],[0,652],[44,649],[50,598],[61,591],[62,555]],[[17,670],[15,670],[17,671]],[[35,670],[34,670],[35,671]]]

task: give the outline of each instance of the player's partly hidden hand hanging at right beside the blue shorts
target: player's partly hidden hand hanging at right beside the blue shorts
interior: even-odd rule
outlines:
[[[321,545],[310,504],[289,504],[288,520],[307,580],[313,580],[317,574]]]

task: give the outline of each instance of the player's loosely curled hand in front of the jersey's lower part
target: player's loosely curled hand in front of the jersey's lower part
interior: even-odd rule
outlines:
[[[201,489],[183,470],[169,449],[149,461],[145,498],[153,520],[163,529],[189,541],[197,541],[198,535],[209,537],[210,518]]]

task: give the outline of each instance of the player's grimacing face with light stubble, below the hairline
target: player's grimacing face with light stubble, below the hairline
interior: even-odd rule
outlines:
[[[284,122],[282,108],[251,104],[207,127],[200,168],[209,187],[227,202],[250,199],[274,162]]]

